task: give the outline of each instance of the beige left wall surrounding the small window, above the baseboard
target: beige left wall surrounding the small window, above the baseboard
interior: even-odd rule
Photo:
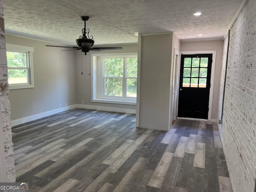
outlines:
[[[12,35],[6,43],[34,47],[34,88],[10,90],[12,121],[76,104],[74,51]]]

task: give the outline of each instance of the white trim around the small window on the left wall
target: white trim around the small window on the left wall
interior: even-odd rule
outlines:
[[[28,69],[28,79],[29,82],[26,84],[9,84],[9,89],[24,89],[24,88],[34,88],[34,67],[33,67],[33,52],[34,47],[22,46],[22,45],[14,45],[14,44],[6,44],[6,51],[12,52],[24,52],[29,53],[29,69]]]

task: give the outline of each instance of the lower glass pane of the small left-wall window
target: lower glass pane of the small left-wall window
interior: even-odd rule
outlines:
[[[28,83],[28,70],[8,69],[9,84]]]

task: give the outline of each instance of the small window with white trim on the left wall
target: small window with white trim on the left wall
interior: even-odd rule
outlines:
[[[10,89],[34,87],[33,52],[32,47],[6,44]]]

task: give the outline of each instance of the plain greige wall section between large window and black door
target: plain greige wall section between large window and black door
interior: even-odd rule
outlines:
[[[170,129],[173,34],[142,36],[139,127]]]

